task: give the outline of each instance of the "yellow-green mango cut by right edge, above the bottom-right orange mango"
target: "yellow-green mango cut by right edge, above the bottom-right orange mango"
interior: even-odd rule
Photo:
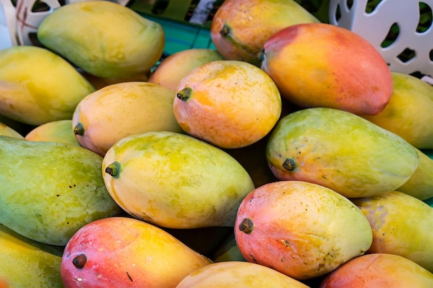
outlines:
[[[433,273],[433,207],[399,191],[352,201],[371,225],[369,253],[403,256]]]

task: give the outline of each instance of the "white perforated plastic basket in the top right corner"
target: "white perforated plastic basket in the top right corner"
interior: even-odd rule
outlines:
[[[393,71],[433,75],[433,0],[331,0],[329,23],[367,39]]]

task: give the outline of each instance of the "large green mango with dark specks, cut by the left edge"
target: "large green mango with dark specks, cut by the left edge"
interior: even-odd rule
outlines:
[[[0,136],[0,223],[27,238],[65,245],[93,220],[118,215],[102,157],[59,142]]]

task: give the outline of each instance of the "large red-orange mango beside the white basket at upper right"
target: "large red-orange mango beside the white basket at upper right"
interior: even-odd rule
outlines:
[[[327,23],[300,23],[269,37],[261,68],[283,98],[302,108],[376,115],[391,98],[391,71],[367,40]]]

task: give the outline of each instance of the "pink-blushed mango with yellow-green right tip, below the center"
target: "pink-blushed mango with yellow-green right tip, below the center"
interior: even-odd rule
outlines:
[[[349,199],[318,184],[279,181],[243,199],[234,224],[243,257],[297,280],[323,276],[369,249],[372,232]]]

